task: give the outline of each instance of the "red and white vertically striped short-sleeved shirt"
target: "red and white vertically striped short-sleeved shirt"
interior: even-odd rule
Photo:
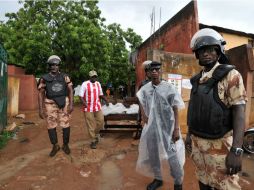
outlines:
[[[102,96],[101,84],[96,81],[91,83],[90,81],[85,81],[82,83],[79,91],[79,96],[84,99],[87,107],[83,108],[85,112],[96,112],[101,110],[100,97]]]

